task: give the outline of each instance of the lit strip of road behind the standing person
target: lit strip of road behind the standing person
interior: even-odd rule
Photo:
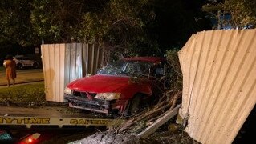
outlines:
[[[42,69],[17,70],[16,84],[39,81],[43,81]],[[6,86],[6,71],[0,71],[0,86]]]

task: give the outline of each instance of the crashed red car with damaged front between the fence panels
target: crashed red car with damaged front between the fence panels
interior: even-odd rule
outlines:
[[[124,58],[105,66],[91,77],[67,85],[64,99],[70,107],[105,114],[133,114],[155,99],[157,79],[165,75],[166,59]],[[159,92],[157,92],[159,93]]]

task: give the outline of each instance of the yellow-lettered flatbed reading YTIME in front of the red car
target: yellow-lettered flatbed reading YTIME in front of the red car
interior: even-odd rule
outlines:
[[[91,114],[68,114],[60,107],[26,108],[1,106],[0,126],[112,126],[115,120]],[[116,123],[116,122],[114,122]]]

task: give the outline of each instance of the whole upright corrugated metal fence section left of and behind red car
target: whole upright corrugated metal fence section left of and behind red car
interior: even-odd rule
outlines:
[[[63,102],[68,83],[95,74],[102,65],[102,50],[83,43],[42,45],[43,73],[47,101]]]

